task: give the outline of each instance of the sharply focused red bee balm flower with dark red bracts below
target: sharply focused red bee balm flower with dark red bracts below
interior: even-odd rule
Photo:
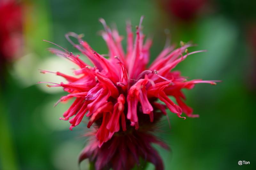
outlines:
[[[127,53],[121,45],[123,39],[117,30],[110,30],[103,19],[100,22],[105,28],[102,33],[109,49],[109,59],[94,51],[80,35],[68,33],[68,41],[86,55],[93,63],[93,67],[84,63],[79,55],[50,49],[52,53],[63,56],[76,63],[80,69],[74,73],[79,78],[56,72],[68,81],[48,87],[63,87],[69,94],[60,98],[66,101],[76,98],[70,108],[63,114],[63,120],[69,120],[70,130],[81,123],[84,115],[89,118],[87,127],[95,124],[96,131],[90,136],[92,140],[85,147],[79,161],[89,158],[95,163],[96,169],[103,167],[114,169],[131,169],[139,159],[145,159],[155,164],[156,169],[163,169],[162,160],[151,143],[167,148],[151,132],[162,115],[166,115],[167,108],[181,117],[184,112],[188,117],[193,110],[185,103],[185,96],[181,89],[192,89],[197,83],[214,81],[187,81],[178,71],[172,71],[177,64],[185,60],[188,55],[186,44],[173,50],[173,46],[166,47],[148,67],[149,48],[151,39],[145,43],[141,31],[141,23],[136,28],[136,38],[133,44],[131,25],[127,24]],[[69,37],[74,37],[79,44],[75,44]],[[42,73],[49,71],[43,70]],[[168,96],[174,96],[175,104]],[[158,99],[164,104],[158,103]],[[72,118],[71,118],[72,117]],[[71,118],[71,119],[70,119]],[[185,117],[183,117],[185,119]]]

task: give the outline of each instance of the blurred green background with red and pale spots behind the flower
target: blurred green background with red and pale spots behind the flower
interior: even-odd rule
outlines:
[[[222,80],[217,86],[199,84],[185,91],[188,105],[200,118],[183,120],[169,113],[171,129],[162,120],[158,135],[172,148],[157,148],[165,168],[256,169],[255,2],[1,0],[0,169],[79,169],[85,124],[69,131],[69,123],[59,120],[69,104],[53,107],[65,93],[36,84],[63,81],[53,74],[40,74],[38,69],[71,73],[75,66],[46,51],[53,45],[42,40],[78,53],[64,35],[84,33],[84,39],[105,54],[98,19],[115,23],[125,35],[125,22],[131,20],[135,30],[141,15],[145,16],[144,33],[154,39],[152,60],[163,49],[166,36],[177,46],[180,40],[192,41],[198,46],[190,50],[208,52],[189,56],[176,69],[189,79]],[[239,160],[250,161],[250,165],[239,166]],[[81,169],[88,169],[88,162]]]

